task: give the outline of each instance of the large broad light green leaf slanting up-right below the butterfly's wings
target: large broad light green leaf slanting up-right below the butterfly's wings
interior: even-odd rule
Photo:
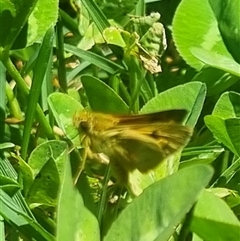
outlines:
[[[195,165],[154,183],[122,211],[104,241],[167,241],[212,174],[209,166]]]

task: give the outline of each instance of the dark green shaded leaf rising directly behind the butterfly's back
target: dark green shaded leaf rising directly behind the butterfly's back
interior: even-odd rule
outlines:
[[[81,81],[92,110],[103,113],[128,112],[127,104],[100,79],[83,75]]]

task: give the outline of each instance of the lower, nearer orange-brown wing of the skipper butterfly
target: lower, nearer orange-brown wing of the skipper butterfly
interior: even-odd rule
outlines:
[[[150,127],[138,126],[137,131],[119,129],[111,134],[113,136],[108,136],[111,144],[106,153],[110,161],[117,162],[128,171],[138,169],[147,172],[183,148],[192,130],[180,124],[162,123]]]

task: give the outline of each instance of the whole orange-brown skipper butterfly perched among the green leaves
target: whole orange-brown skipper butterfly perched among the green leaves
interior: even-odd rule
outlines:
[[[184,109],[142,115],[84,110],[74,115],[73,123],[82,133],[87,155],[107,156],[116,179],[126,185],[129,172],[147,173],[187,145],[192,128],[182,124],[186,116]]]

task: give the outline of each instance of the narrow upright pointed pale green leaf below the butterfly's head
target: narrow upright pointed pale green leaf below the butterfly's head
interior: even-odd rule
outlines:
[[[56,240],[100,240],[98,221],[84,206],[80,193],[73,186],[69,160],[65,162],[63,185],[60,187],[57,206]]]

